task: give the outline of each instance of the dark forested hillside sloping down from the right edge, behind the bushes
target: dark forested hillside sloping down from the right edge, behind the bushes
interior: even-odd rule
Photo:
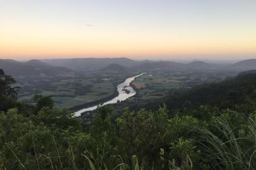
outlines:
[[[163,98],[143,102],[120,103],[124,108],[131,110],[146,108],[157,110],[159,105],[166,104],[168,110],[173,113],[190,114],[202,105],[248,113],[255,110],[256,99],[256,74],[255,71],[241,72],[238,76],[226,81],[206,83],[194,86],[192,89],[172,90]],[[117,106],[119,108],[119,106]]]

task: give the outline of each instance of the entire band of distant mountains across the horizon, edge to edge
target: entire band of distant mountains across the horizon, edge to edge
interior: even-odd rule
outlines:
[[[194,61],[183,64],[172,61],[137,61],[127,58],[82,58],[45,59],[18,62],[0,59],[0,69],[13,76],[54,76],[65,72],[83,71],[156,71],[156,70],[232,70],[248,71],[256,69],[256,59],[241,60],[235,64],[211,64]]]

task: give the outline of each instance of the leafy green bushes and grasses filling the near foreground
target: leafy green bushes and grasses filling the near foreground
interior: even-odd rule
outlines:
[[[231,110],[216,113],[201,106],[193,112],[197,118],[168,117],[163,105],[158,111],[126,110],[114,120],[112,108],[99,111],[85,128],[71,111],[49,106],[30,116],[17,108],[4,112],[0,115],[0,168],[256,168],[255,112],[249,116]]]

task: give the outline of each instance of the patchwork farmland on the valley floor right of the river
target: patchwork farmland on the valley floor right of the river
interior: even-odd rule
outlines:
[[[164,96],[168,91],[191,88],[204,82],[218,82],[228,76],[218,71],[154,71],[138,77],[132,85],[137,89],[137,98],[150,99]]]

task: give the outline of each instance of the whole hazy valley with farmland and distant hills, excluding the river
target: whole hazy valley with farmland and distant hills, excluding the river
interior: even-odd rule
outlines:
[[[45,63],[47,62],[47,63]],[[248,62],[252,63],[253,60]],[[84,64],[82,67],[81,64]],[[15,77],[21,87],[18,99],[34,104],[33,96],[52,96],[57,108],[78,110],[104,103],[117,96],[117,84],[142,72],[132,82],[137,94],[129,101],[161,98],[168,91],[189,89],[203,83],[219,82],[252,68],[246,61],[233,65],[206,62],[153,62],[120,59],[0,60],[0,66]],[[86,66],[90,64],[90,67]],[[19,65],[19,67],[17,67]],[[67,66],[69,65],[69,66]],[[77,67],[74,67],[76,65]],[[13,68],[13,69],[12,69]],[[84,68],[84,69],[82,69]],[[91,68],[88,70],[88,68]]]

